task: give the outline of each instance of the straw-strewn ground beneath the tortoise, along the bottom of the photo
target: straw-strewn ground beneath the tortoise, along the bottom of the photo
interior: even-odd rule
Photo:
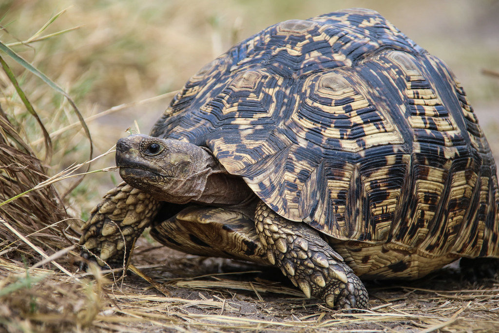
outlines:
[[[432,275],[432,288],[428,288],[428,281],[370,284],[370,311],[343,314],[304,299],[285,282],[273,281],[272,274],[277,271],[265,274],[231,261],[171,251],[155,255],[170,262],[138,269],[159,283],[161,291],[133,274],[112,284],[101,278],[92,280],[96,283],[84,280],[88,274],[68,278],[52,270],[31,269],[28,281],[25,269],[1,260],[0,272],[6,275],[2,283],[17,287],[1,297],[0,315],[9,319],[2,324],[12,331],[28,328],[44,332],[495,332],[499,325],[499,283],[469,286],[460,282],[452,269]],[[139,255],[135,261],[143,259]],[[119,272],[114,273],[119,276]]]

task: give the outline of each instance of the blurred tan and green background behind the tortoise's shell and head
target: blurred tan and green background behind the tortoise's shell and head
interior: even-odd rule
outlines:
[[[205,63],[268,25],[347,7],[379,11],[453,69],[499,161],[499,77],[483,73],[499,72],[497,0],[1,0],[0,40],[68,91],[84,117],[89,117],[115,105],[176,91]],[[55,36],[19,42],[28,41],[62,9],[67,10],[41,34]],[[5,58],[49,132],[77,121],[62,96]],[[149,132],[171,97],[169,94],[89,121],[94,156],[126,136],[129,127]],[[36,123],[26,114],[3,72],[0,104],[16,117],[33,148],[42,151]],[[50,162],[52,173],[88,158],[89,145],[82,131],[73,128],[52,139],[56,148]],[[113,164],[111,154],[92,169]],[[67,198],[68,203],[85,219],[88,210],[118,181],[117,173],[89,175]]]

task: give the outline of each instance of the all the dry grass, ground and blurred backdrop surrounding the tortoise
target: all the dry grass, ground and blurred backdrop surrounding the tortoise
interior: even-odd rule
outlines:
[[[132,258],[136,273],[125,278],[119,270],[82,273],[74,265],[77,218],[86,219],[117,181],[97,171],[112,165],[106,152],[134,120],[147,132],[169,92],[232,43],[279,20],[348,6],[373,4],[1,1],[0,41],[69,92],[87,119],[94,155],[103,156],[92,162],[96,172],[65,195],[77,179],[66,177],[88,166],[78,117],[66,99],[0,52],[41,123],[0,70],[0,331],[499,332],[499,280],[470,285],[455,267],[421,281],[369,282],[371,309],[352,315],[305,299],[279,271],[184,255],[158,247],[147,233]],[[451,65],[499,157],[497,2],[482,8],[386,1],[375,9]]]

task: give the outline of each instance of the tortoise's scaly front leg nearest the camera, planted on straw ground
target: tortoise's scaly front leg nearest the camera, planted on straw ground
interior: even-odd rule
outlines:
[[[256,208],[255,225],[268,261],[306,297],[322,299],[333,309],[367,308],[364,285],[317,231],[284,219],[263,202]]]

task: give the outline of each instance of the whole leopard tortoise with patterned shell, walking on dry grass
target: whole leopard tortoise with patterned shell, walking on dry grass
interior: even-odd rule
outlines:
[[[125,263],[152,226],[168,247],[274,265],[306,297],[363,309],[359,277],[499,258],[496,165],[463,87],[373,10],[287,20],[233,46],[150,136],[118,141],[116,165],[126,183],[79,242],[101,266]]]

